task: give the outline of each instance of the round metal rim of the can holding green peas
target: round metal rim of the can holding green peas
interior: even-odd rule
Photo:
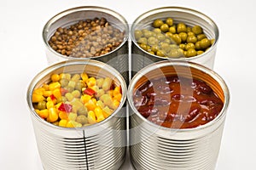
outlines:
[[[215,41],[213,42],[211,48],[209,48],[207,51],[205,51],[203,54],[199,54],[196,55],[194,57],[190,57],[190,58],[166,58],[166,57],[160,57],[154,54],[150,54],[147,51],[143,50],[143,48],[141,48],[138,44],[137,41],[135,40],[134,34],[133,32],[135,31],[135,26],[137,26],[137,24],[139,24],[139,22],[141,20],[143,20],[144,18],[152,15],[152,14],[157,14],[160,12],[168,12],[168,11],[177,11],[177,12],[183,12],[183,13],[188,13],[188,14],[194,14],[195,16],[201,17],[202,19],[206,20],[208,24],[212,25],[214,28],[214,33],[215,33]],[[173,60],[173,61],[190,61],[193,59],[199,59],[204,57],[205,55],[207,55],[208,53],[210,53],[214,48],[216,48],[217,44],[218,44],[218,37],[219,37],[219,30],[218,30],[218,26],[217,24],[206,14],[201,13],[198,10],[192,9],[192,8],[184,8],[184,7],[179,7],[179,6],[171,6],[171,7],[162,7],[162,8],[154,8],[151,9],[141,15],[139,15],[137,17],[136,20],[133,21],[132,25],[131,25],[131,41],[137,46],[137,48],[143,50],[143,52],[147,53],[148,55],[158,58],[158,59],[169,59],[169,60]]]

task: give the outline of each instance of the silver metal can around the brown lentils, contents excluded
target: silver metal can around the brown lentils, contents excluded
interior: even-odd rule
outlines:
[[[96,59],[113,66],[117,71],[119,71],[128,83],[129,73],[128,73],[128,37],[129,37],[129,26],[125,18],[114,12],[109,8],[102,8],[96,6],[82,6],[77,8],[69,8],[62,11],[59,14],[53,16],[44,26],[43,29],[43,40],[46,50],[46,57],[49,64],[54,64],[58,61],[67,59],[81,59],[74,57],[67,57],[57,53],[53,48],[49,46],[49,38],[54,34],[58,27],[68,27],[80,20],[93,20],[95,18],[105,18],[111,24],[111,26],[119,29],[125,33],[123,42],[118,48],[108,54],[103,54],[97,57],[90,57],[86,59]]]

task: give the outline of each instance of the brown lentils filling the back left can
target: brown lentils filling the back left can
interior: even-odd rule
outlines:
[[[124,32],[110,26],[105,18],[80,20],[67,28],[57,28],[49,38],[49,46],[62,55],[90,58],[108,54],[118,48],[124,35]]]

